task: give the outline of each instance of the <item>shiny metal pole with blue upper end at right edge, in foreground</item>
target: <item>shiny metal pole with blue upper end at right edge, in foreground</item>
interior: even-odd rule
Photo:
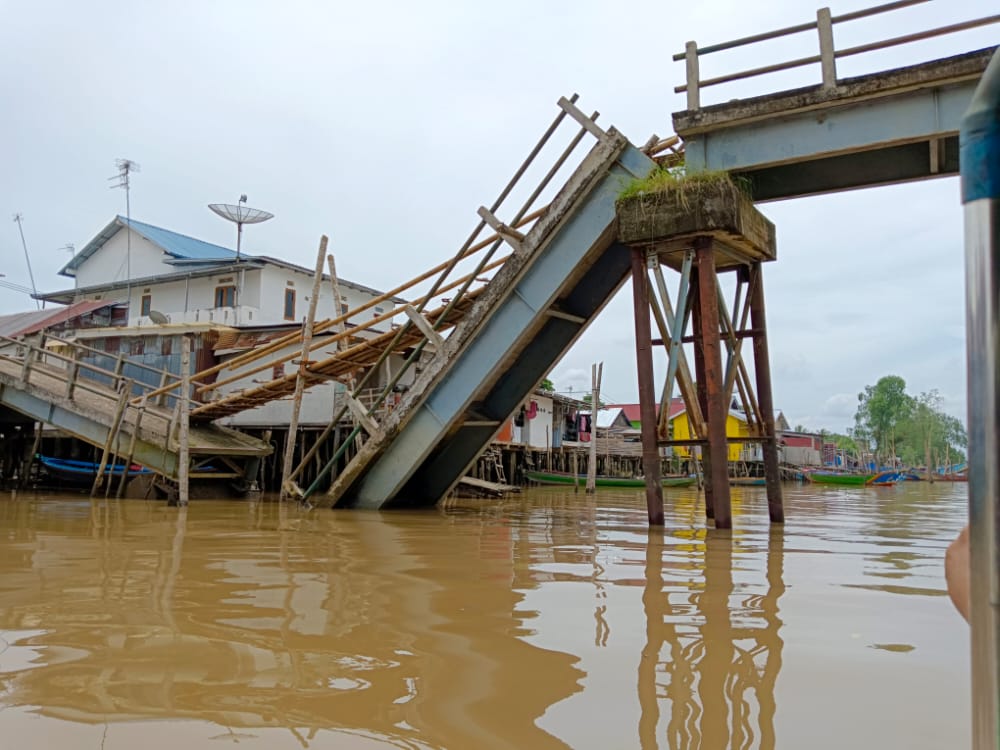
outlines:
[[[972,746],[1000,748],[1000,54],[962,119]]]

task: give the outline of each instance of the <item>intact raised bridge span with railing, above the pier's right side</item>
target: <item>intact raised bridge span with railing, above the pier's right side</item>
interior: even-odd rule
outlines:
[[[922,180],[958,173],[958,131],[976,84],[996,47],[893,70],[838,78],[842,57],[887,49],[1000,22],[988,16],[850,48],[837,48],[836,24],[916,3],[876,6],[684,53],[687,109],[673,116],[692,171],[720,170],[748,179],[755,200]],[[899,6],[899,7],[897,7]],[[819,54],[701,80],[704,55],[816,29]],[[817,64],[821,82],[765,96],[703,106],[702,89],[802,65]]]

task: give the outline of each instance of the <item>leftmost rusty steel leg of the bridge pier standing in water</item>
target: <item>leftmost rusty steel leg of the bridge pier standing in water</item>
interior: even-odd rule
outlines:
[[[649,324],[649,279],[646,253],[632,250],[632,307],[635,317],[635,365],[639,374],[639,419],[642,420],[642,473],[646,477],[646,510],[650,526],[663,525],[660,450],[656,444],[656,391],[653,387],[653,336]]]

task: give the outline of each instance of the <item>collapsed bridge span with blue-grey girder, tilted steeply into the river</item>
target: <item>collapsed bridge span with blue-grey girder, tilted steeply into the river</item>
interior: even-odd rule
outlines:
[[[503,421],[531,393],[628,276],[615,201],[655,166],[614,129],[571,102],[578,139],[597,139],[526,235],[480,215],[513,248],[400,405],[368,437],[314,504],[432,505],[461,479]],[[429,332],[433,337],[433,332]]]

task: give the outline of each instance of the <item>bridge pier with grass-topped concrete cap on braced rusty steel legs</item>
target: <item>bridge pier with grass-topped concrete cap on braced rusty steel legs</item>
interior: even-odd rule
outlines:
[[[780,523],[784,513],[760,270],[762,262],[775,257],[774,225],[729,180],[701,179],[687,184],[668,183],[620,200],[618,232],[619,240],[632,248],[644,459],[654,437],[657,448],[674,447],[682,461],[694,462],[692,468],[697,467],[700,449],[706,515],[714,520],[716,528],[728,529],[733,523],[730,444],[740,445],[739,456],[733,458],[757,464],[759,473],[755,474],[763,474],[768,486],[770,519]],[[652,295],[643,265],[656,278]],[[676,309],[662,266],[681,274]],[[723,272],[736,276],[732,315],[720,285],[719,274]],[[648,338],[650,312],[660,339]],[[689,321],[693,324],[690,336],[685,335]],[[742,357],[742,341],[746,338],[754,341],[756,388]],[[646,342],[649,346],[645,346]],[[694,383],[684,359],[684,343],[693,344]],[[654,389],[646,381],[652,378],[650,347],[657,344],[666,351],[667,379],[659,391],[661,414],[654,429],[648,426],[656,421]],[[671,420],[675,378],[685,409],[675,410]],[[730,429],[733,424],[738,424],[738,430]],[[655,458],[658,473],[659,456]],[[654,476],[654,469],[644,469],[647,478]],[[652,497],[652,483],[647,485],[647,492]]]

